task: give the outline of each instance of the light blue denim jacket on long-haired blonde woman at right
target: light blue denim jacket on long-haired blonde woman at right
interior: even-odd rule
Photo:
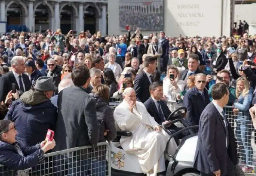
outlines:
[[[236,122],[237,123],[248,123],[251,121],[250,114],[249,114],[249,109],[252,103],[252,94],[253,94],[253,89],[249,89],[249,93],[247,95],[242,96],[240,95],[237,98],[237,102],[234,102],[234,106],[239,109],[238,114],[236,116]]]

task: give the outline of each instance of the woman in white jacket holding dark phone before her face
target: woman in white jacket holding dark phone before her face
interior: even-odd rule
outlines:
[[[167,75],[163,80],[163,90],[167,101],[175,102],[177,94],[184,90],[185,85],[185,81],[180,80],[180,72],[178,68],[173,65],[168,66]],[[171,111],[178,108],[178,104],[176,102],[168,104]]]

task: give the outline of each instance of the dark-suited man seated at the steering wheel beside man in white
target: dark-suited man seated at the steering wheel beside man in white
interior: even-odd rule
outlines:
[[[164,100],[161,100],[161,98],[163,98],[162,83],[153,82],[152,84],[150,84],[149,92],[151,96],[148,98],[146,102],[144,102],[144,105],[147,108],[147,111],[150,114],[150,116],[154,117],[155,121],[162,126],[164,123],[168,123],[167,118],[172,113],[168,108],[166,102]],[[168,126],[168,130],[170,130],[172,134],[181,129],[182,128],[179,128],[174,124]],[[184,134],[180,133],[179,136],[175,138],[177,145],[179,144],[179,139],[185,137],[186,133],[187,132],[185,132]]]

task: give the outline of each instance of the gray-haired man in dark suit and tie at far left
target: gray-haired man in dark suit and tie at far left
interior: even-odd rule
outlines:
[[[12,71],[0,77],[0,101],[5,100],[8,92],[12,90],[12,84],[15,84],[16,89],[22,92],[28,91],[31,87],[28,75],[24,74],[25,62],[23,57],[14,56],[11,65]]]

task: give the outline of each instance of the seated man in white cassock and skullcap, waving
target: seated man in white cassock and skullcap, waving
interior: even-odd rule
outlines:
[[[121,137],[124,151],[138,157],[142,171],[147,176],[156,176],[165,171],[164,150],[169,135],[150,116],[146,107],[136,101],[133,88],[123,92],[124,101],[115,109],[114,118],[117,129],[132,132],[132,137]],[[174,154],[177,144],[171,139],[168,152]]]

